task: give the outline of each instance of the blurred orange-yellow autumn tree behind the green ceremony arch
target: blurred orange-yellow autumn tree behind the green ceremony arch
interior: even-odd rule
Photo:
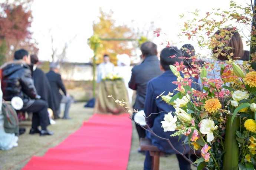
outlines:
[[[132,39],[133,31],[126,25],[116,26],[115,20],[112,19],[113,12],[105,13],[100,9],[98,22],[93,22],[93,33],[101,39]],[[112,63],[116,64],[117,54],[128,54],[131,56],[132,46],[127,41],[102,41],[97,48],[96,63],[101,63],[103,55],[109,54]]]

